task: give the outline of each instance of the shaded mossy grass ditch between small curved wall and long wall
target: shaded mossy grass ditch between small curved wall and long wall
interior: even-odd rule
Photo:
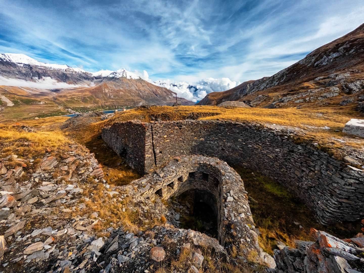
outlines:
[[[277,241],[294,247],[294,240],[314,240],[310,228],[323,230],[339,238],[351,238],[360,232],[360,221],[323,226],[314,214],[279,183],[248,169],[234,167],[248,191],[249,205],[259,244],[269,254],[277,248]]]

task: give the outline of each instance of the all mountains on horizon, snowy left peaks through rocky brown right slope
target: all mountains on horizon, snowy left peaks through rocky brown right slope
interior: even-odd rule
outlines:
[[[251,107],[350,107],[364,112],[363,45],[364,24],[273,76],[211,92],[197,104],[242,101]],[[0,54],[0,84],[0,115],[24,118],[142,104],[172,105],[173,91],[195,99],[202,90],[187,82],[150,83],[125,69],[87,72],[38,62],[23,54]],[[194,104],[183,98],[178,102]]]

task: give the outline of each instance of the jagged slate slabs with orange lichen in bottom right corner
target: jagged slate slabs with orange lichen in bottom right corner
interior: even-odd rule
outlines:
[[[364,236],[340,240],[312,229],[316,242],[296,241],[297,249],[278,246],[274,260],[278,273],[364,272]]]

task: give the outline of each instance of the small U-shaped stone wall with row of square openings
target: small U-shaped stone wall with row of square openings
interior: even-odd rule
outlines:
[[[218,158],[190,155],[174,159],[158,173],[134,180],[125,189],[135,201],[169,199],[191,189],[210,193],[214,198],[209,205],[217,210],[220,244],[242,244],[246,249],[259,250],[244,183]]]

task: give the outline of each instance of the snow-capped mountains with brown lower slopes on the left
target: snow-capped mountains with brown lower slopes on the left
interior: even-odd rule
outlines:
[[[14,112],[24,116],[28,111],[48,116],[142,104],[172,105],[176,100],[171,90],[125,69],[87,72],[38,62],[23,54],[0,54],[0,82],[4,84],[0,86],[0,115],[5,116]],[[178,102],[194,104],[183,98]]]

